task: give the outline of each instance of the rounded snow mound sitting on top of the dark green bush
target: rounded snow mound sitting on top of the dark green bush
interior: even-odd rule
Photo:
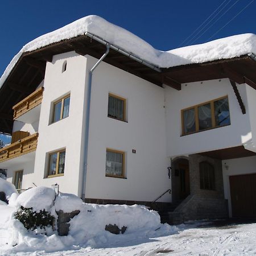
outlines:
[[[16,199],[16,207],[32,208],[35,212],[52,207],[55,191],[52,188],[36,187],[24,191]]]

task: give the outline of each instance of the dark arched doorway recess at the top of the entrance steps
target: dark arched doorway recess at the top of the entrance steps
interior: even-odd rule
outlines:
[[[172,161],[172,201],[184,200],[190,194],[188,159],[178,158]]]

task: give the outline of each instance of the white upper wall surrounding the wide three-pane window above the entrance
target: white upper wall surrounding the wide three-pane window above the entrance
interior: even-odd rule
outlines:
[[[237,85],[247,106],[246,86]],[[189,155],[242,145],[251,140],[248,112],[242,114],[228,79],[182,84],[181,90],[166,86],[167,154]],[[231,125],[181,136],[181,110],[228,95]]]

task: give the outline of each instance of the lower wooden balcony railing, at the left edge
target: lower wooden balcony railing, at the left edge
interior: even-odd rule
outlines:
[[[38,133],[20,139],[9,146],[0,148],[0,163],[36,150]]]

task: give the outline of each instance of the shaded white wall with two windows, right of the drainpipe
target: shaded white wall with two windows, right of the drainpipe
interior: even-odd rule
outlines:
[[[88,56],[88,67],[96,61]],[[126,98],[127,122],[108,117],[109,93]],[[153,201],[171,187],[164,89],[101,63],[93,72],[91,102],[85,197]],[[105,176],[107,147],[125,151],[126,179]],[[170,200],[167,195],[159,201]]]

